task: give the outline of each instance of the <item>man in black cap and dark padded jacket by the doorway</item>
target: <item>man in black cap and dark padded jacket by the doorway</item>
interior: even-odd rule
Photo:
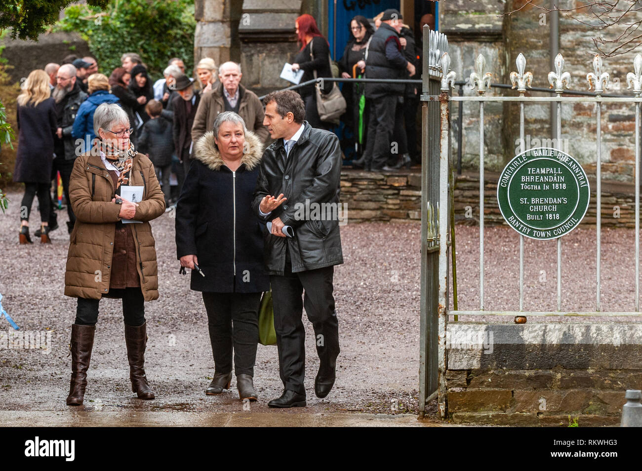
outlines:
[[[389,8],[383,12],[381,26],[370,40],[365,65],[367,78],[404,79],[415,74],[415,66],[403,56],[399,31],[403,17]],[[407,72],[408,73],[407,73]],[[393,83],[366,83],[365,96],[370,99],[368,141],[365,150],[365,167],[372,171],[392,171],[386,166],[390,158],[390,141],[395,127],[397,105],[403,101],[405,85]]]

